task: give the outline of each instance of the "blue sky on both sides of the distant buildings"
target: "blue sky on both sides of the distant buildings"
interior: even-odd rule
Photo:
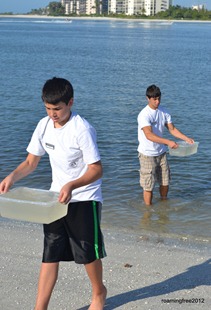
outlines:
[[[0,13],[28,13],[32,9],[43,8],[52,1],[54,0],[0,0]],[[173,0],[173,5],[184,7],[198,4],[204,4],[208,10],[211,10],[211,0]]]

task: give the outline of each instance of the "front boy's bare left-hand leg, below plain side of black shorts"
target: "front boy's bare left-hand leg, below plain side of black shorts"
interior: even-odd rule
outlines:
[[[47,310],[58,277],[59,263],[42,263],[34,310]]]

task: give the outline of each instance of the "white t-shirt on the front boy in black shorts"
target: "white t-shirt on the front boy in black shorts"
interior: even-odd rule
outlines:
[[[27,152],[43,156],[48,153],[52,169],[50,190],[60,192],[63,185],[82,176],[88,164],[100,160],[95,129],[77,113],[61,128],[54,128],[48,117],[41,119],[32,135]],[[77,188],[73,201],[96,200],[102,202],[101,179]]]

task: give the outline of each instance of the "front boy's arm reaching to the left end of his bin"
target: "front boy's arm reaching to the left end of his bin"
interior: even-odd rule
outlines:
[[[28,154],[26,159],[0,183],[0,193],[8,192],[15,182],[33,172],[40,158],[39,156]]]

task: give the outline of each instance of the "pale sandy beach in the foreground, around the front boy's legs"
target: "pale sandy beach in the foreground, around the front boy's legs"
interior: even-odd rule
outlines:
[[[42,257],[42,225],[1,219],[1,309],[32,310]],[[103,228],[105,309],[210,309],[211,250]],[[83,266],[61,263],[49,310],[85,310]]]

